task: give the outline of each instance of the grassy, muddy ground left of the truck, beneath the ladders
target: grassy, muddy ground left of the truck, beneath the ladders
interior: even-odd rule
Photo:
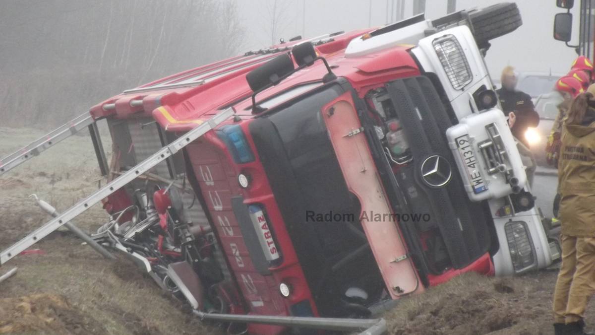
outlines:
[[[0,128],[0,157],[42,135]],[[105,148],[109,138],[103,137]],[[108,150],[109,151],[109,150]],[[59,211],[98,187],[100,177],[87,135],[74,136],[0,177],[0,249],[48,221],[30,194]],[[95,231],[107,219],[98,204],[76,219]],[[0,333],[201,334],[212,333],[189,310],[143,277],[126,259],[102,258],[63,228],[0,269],[18,266],[0,284]]]

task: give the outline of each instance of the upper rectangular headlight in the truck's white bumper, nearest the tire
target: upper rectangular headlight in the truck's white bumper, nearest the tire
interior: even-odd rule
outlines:
[[[453,88],[462,89],[473,80],[471,68],[455,35],[434,39],[432,45]]]

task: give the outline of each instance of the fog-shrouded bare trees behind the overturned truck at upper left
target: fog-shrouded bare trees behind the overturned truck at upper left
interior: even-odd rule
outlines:
[[[43,128],[243,38],[230,0],[6,0],[0,29],[0,126]]]

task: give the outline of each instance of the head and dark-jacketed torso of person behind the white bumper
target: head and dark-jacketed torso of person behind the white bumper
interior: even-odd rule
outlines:
[[[515,69],[507,66],[502,71],[502,88],[497,89],[496,93],[500,98],[502,111],[508,117],[513,113],[515,124],[512,126],[512,135],[516,137],[525,147],[529,146],[525,138],[525,132],[529,127],[537,127],[539,124],[539,114],[535,111],[531,96],[525,92],[516,91],[517,77]]]

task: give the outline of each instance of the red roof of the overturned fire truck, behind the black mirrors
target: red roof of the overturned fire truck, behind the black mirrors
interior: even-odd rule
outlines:
[[[389,78],[419,74],[415,61],[408,54],[412,45],[397,45],[357,57],[346,57],[345,49],[349,42],[372,30],[374,29],[330,34],[246,52],[244,55],[129,89],[93,106],[90,113],[95,119],[108,116],[118,119],[152,116],[167,131],[187,131],[202,123],[202,119],[208,119],[218,110],[227,107],[233,107],[242,118],[253,117],[250,99],[252,90],[246,81],[246,75],[304,41],[312,41],[318,54],[326,58],[335,75],[346,77],[356,89],[386,82]],[[322,85],[322,77],[326,73],[324,63],[317,61],[312,66],[293,73],[278,85],[259,92],[256,101],[259,104],[270,101],[271,106],[268,107],[273,107],[275,97],[283,92],[295,91],[295,95],[299,95]],[[385,76],[386,79],[381,80]]]

